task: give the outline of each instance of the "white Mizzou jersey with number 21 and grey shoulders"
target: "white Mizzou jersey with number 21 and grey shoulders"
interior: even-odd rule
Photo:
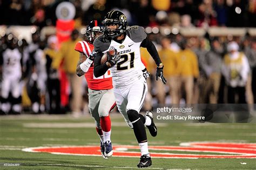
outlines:
[[[120,60],[110,69],[115,87],[128,86],[143,76],[142,70],[145,69],[145,66],[140,58],[140,44],[145,38],[144,28],[132,26],[126,30],[122,44],[111,40],[111,42],[103,45],[103,50],[100,50],[103,53],[111,50],[111,48],[120,53]]]

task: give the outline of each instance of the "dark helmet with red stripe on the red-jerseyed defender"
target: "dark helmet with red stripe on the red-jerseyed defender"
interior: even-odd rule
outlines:
[[[86,38],[93,43],[101,35],[103,35],[102,25],[97,20],[91,21],[86,27]]]

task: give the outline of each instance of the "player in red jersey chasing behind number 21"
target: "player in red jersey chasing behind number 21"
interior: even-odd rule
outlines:
[[[110,140],[111,120],[109,112],[116,106],[113,94],[112,76],[108,70],[103,76],[93,74],[94,40],[103,35],[102,27],[97,20],[91,21],[86,27],[86,38],[76,44],[75,50],[80,53],[77,63],[77,76],[85,75],[88,84],[89,111],[95,119],[96,130],[100,138],[100,152],[104,159],[112,156],[113,149]]]

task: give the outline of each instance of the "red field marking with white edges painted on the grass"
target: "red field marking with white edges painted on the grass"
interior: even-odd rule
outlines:
[[[188,142],[181,146],[150,146],[151,157],[154,158],[256,158],[256,144],[250,143],[228,143],[228,142]],[[137,149],[138,146],[117,145],[113,146],[113,157],[139,157],[140,152],[129,151]],[[59,146],[59,147],[35,147],[24,148],[25,152],[47,152],[52,154],[70,154],[101,156],[99,146]],[[154,151],[170,151],[169,153]],[[171,151],[183,152],[207,152],[218,154],[183,154]],[[225,154],[221,154],[225,153]]]

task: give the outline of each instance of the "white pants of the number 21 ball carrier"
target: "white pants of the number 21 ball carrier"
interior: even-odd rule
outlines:
[[[127,125],[131,128],[133,126],[128,118],[127,111],[136,110],[139,113],[140,109],[142,109],[146,96],[147,83],[143,76],[129,86],[115,87],[114,89],[117,108],[123,115]]]

